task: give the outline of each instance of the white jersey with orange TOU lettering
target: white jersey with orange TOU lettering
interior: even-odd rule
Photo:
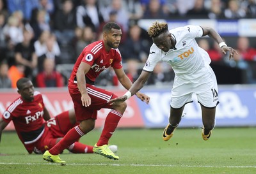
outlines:
[[[152,72],[157,62],[164,61],[170,64],[175,75],[183,80],[211,76],[209,54],[200,48],[195,40],[195,38],[202,37],[202,27],[186,25],[172,29],[170,33],[176,40],[175,47],[168,52],[163,52],[153,43],[143,70]]]

